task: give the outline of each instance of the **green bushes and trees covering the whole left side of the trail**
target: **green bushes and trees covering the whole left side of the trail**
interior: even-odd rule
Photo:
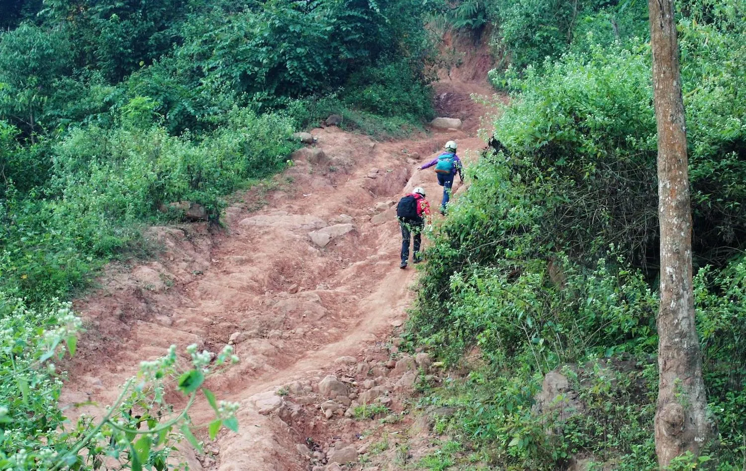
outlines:
[[[98,423],[67,423],[49,365],[79,321],[52,299],[142,253],[143,224],[180,216],[169,203],[215,222],[226,194],[286,165],[294,130],[341,113],[385,138],[430,118],[430,3],[1,2],[0,469],[166,469],[175,440],[198,447],[166,382],[189,405],[204,393],[211,437],[236,429],[194,348],[191,367],[173,350],[145,364]]]

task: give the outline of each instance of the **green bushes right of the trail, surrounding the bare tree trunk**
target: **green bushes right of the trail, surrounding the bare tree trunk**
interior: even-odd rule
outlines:
[[[514,3],[513,11],[532,11],[520,10],[527,5]],[[746,110],[739,94],[746,74],[738,12],[745,6],[681,5],[695,309],[719,436],[706,455],[682,456],[675,469],[743,467]],[[650,59],[644,37],[609,40],[606,21],[620,18],[604,16],[609,7],[621,13],[639,5],[593,10],[598,14],[571,28],[545,31],[554,39],[540,45],[527,38],[521,47],[541,63],[492,72],[514,101],[486,132],[493,149],[468,169],[468,190],[433,230],[410,321],[415,344],[471,369],[466,379],[429,391],[426,400],[458,410],[436,429],[508,469],[560,469],[572,456],[592,456],[598,467],[657,467]],[[627,31],[636,31],[638,13],[630,13]],[[510,25],[496,26],[510,32]],[[554,45],[551,54],[564,54],[544,60],[543,48]],[[569,396],[574,408],[536,405],[550,370],[569,379],[571,392],[557,402]]]

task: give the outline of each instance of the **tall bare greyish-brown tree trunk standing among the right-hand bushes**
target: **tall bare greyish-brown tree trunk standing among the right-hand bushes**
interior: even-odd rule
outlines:
[[[692,207],[673,0],[648,0],[658,128],[660,221],[658,464],[699,455],[712,434],[692,294]]]

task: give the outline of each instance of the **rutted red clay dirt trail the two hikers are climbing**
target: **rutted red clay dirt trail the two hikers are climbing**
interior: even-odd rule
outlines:
[[[219,351],[233,337],[241,361],[208,386],[219,399],[241,403],[239,433],[221,432],[208,458],[187,452],[190,468],[310,470],[297,444],[337,432],[304,411],[312,399],[300,396],[317,391],[326,374],[386,360],[380,345],[392,323],[406,317],[416,276],[412,265],[398,268],[395,201],[423,186],[437,209],[442,189],[434,172],[416,166],[450,139],[467,160],[485,148],[476,130],[486,108],[471,93],[493,92],[483,81],[436,83],[439,116],[462,118],[462,130],[374,143],[338,127],[315,129],[318,141],[310,147],[326,157],[296,161],[276,177],[276,189],[246,192],[244,203],[226,210],[225,230],[152,228],[163,253],[136,266],[113,265],[101,287],[75,303],[87,333],[70,365],[63,405],[110,404],[140,361],[163,355],[169,345]],[[325,247],[310,237],[317,230],[332,236]],[[300,404],[277,404],[275,391],[286,385]],[[209,413],[207,404],[195,405],[194,422],[204,423]]]

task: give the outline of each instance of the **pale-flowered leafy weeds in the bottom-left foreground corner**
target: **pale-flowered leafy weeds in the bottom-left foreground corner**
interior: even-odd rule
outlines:
[[[200,448],[188,412],[202,395],[216,414],[211,437],[222,426],[237,429],[237,405],[217,402],[203,383],[238,358],[226,347],[213,361],[213,353],[198,353],[195,345],[186,349],[189,367],[171,347],[163,358],[142,363],[103,418],[83,416],[70,423],[57,406],[65,373],[57,373],[54,361],[62,360],[65,350],[75,355],[80,330],[81,320],[69,304],[54,300],[34,310],[0,293],[0,469],[95,470],[104,462],[119,469],[169,469],[178,441],[186,437]],[[174,382],[187,398],[181,411],[165,402]]]

